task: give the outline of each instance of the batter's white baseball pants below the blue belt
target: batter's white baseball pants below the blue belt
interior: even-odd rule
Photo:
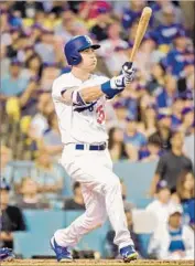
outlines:
[[[122,248],[132,245],[121,196],[119,178],[112,172],[108,150],[75,150],[66,145],[62,166],[74,181],[82,183],[86,212],[54,236],[58,245],[74,247],[83,235],[104,224],[107,216],[116,232],[113,243]]]

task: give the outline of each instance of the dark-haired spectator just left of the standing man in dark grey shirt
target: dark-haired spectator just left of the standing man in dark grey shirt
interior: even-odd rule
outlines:
[[[158,161],[162,155],[161,139],[158,135],[149,137],[145,150],[140,150],[139,159],[142,162]]]

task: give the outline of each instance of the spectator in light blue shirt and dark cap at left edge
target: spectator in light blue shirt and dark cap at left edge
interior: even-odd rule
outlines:
[[[1,81],[0,99],[6,100],[11,96],[20,97],[28,87],[29,77],[21,74],[22,63],[12,60],[10,71]]]

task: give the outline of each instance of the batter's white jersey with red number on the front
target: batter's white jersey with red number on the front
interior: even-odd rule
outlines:
[[[52,97],[57,114],[63,143],[99,143],[108,139],[105,125],[106,97],[88,104],[87,106],[67,105],[64,103],[62,92],[71,88],[82,89],[107,82],[109,78],[90,75],[83,82],[72,73],[57,77],[53,83]]]

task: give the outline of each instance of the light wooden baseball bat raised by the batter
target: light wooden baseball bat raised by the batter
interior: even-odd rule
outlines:
[[[134,39],[134,43],[133,43],[133,47],[130,54],[130,62],[132,63],[136,56],[136,53],[140,46],[140,43],[145,34],[150,18],[152,15],[152,9],[147,7],[143,9],[142,13],[141,13],[141,18],[138,24],[138,29],[137,29],[137,34],[136,34],[136,39]]]

